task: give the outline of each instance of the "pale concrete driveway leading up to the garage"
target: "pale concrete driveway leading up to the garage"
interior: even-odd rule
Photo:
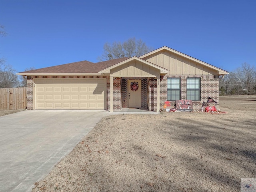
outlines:
[[[31,191],[107,111],[27,110],[0,117],[0,191]]]

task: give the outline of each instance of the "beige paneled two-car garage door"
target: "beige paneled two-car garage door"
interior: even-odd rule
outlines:
[[[35,79],[36,109],[104,109],[105,79]]]

